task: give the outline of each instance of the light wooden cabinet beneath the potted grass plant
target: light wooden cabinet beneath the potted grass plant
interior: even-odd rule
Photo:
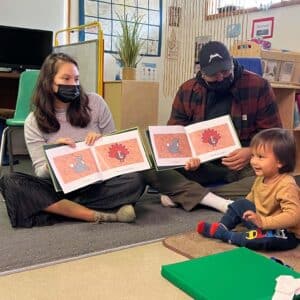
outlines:
[[[144,130],[149,125],[157,125],[158,97],[158,82],[136,80],[104,82],[104,99],[118,130],[136,126]]]

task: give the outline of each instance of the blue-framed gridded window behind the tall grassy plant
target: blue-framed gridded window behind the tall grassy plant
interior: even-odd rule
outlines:
[[[98,21],[104,33],[104,50],[116,53],[116,40],[121,32],[117,15],[142,16],[142,54],[160,56],[162,0],[79,0],[80,24]],[[83,40],[95,39],[95,33],[85,31]]]

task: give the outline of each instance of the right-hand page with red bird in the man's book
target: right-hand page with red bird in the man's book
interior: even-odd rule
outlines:
[[[201,162],[217,159],[241,148],[229,115],[185,127],[193,156]]]

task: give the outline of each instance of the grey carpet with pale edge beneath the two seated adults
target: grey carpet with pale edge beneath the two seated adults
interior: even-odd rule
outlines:
[[[0,197],[1,198],[1,197]],[[200,219],[220,218],[214,210],[165,208],[158,194],[145,194],[136,205],[135,223],[65,222],[14,229],[0,201],[0,275],[149,243],[194,229]]]

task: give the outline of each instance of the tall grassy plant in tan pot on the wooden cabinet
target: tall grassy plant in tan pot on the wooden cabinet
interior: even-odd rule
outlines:
[[[132,21],[128,20],[128,15],[124,17],[117,15],[121,24],[116,48],[118,60],[122,67],[122,78],[134,80],[136,78],[136,66],[141,60],[140,51],[144,41],[141,40],[141,20],[142,17],[135,17]]]

